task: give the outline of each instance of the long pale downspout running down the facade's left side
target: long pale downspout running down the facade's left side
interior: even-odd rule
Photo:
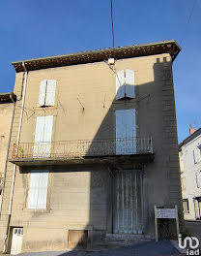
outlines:
[[[23,95],[22,95],[22,103],[21,103],[21,112],[19,116],[19,125],[18,125],[18,133],[16,137],[16,146],[19,144],[20,139],[20,133],[21,133],[21,124],[22,124],[22,117],[23,117],[23,109],[24,109],[24,100],[25,100],[25,93],[26,93],[26,84],[27,84],[27,77],[28,77],[28,71],[24,65],[24,62],[22,62],[22,67],[24,69],[24,77],[23,77]],[[13,200],[14,200],[14,181],[15,181],[15,175],[16,175],[16,165],[14,165],[14,171],[13,171],[13,179],[12,179],[12,188],[11,188],[11,197],[10,197],[10,204],[9,204],[9,218],[8,218],[8,224],[7,224],[7,233],[4,241],[4,249],[3,253],[7,252],[8,247],[8,238],[10,233],[10,222],[11,222],[11,216],[12,216],[12,207],[13,207]]]

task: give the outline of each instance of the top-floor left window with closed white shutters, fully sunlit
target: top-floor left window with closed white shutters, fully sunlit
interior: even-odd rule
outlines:
[[[39,107],[54,106],[56,80],[42,80],[39,92]]]

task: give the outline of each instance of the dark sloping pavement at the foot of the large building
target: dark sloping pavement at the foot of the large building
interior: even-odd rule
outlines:
[[[170,240],[149,241],[99,252],[66,251],[21,253],[20,256],[181,256]]]

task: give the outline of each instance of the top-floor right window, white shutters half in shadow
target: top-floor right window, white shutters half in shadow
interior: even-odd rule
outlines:
[[[121,70],[116,75],[116,100],[122,98],[135,98],[134,71]]]

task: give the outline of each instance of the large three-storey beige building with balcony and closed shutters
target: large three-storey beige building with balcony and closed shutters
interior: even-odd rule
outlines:
[[[13,63],[14,93],[23,93],[1,247],[18,253],[153,238],[155,205],[178,205],[183,220],[172,79],[180,49],[167,41]]]

